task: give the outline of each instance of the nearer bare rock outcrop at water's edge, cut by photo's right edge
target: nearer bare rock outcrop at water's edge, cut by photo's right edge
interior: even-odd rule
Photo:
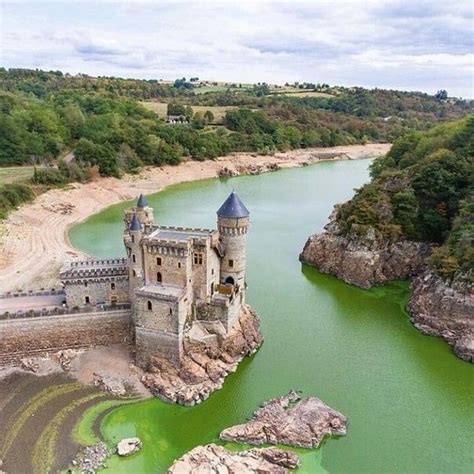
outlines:
[[[474,362],[474,294],[467,284],[449,285],[425,271],[412,282],[411,320],[424,334],[442,337],[458,357]]]

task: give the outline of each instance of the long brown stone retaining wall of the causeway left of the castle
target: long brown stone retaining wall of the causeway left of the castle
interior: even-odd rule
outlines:
[[[130,310],[0,320],[0,365],[63,349],[129,341]]]

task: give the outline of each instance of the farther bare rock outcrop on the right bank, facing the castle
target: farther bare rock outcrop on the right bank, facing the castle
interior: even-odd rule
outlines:
[[[430,253],[427,244],[405,240],[381,242],[375,233],[363,238],[344,236],[335,219],[336,211],[325,232],[309,237],[300,260],[352,285],[370,288],[416,275]]]

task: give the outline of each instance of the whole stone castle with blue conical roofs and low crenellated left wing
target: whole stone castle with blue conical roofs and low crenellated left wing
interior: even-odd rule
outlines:
[[[225,342],[245,308],[249,211],[232,192],[217,230],[155,225],[143,195],[124,216],[126,258],[61,269],[69,308],[130,304],[136,362],[180,363],[189,343]]]

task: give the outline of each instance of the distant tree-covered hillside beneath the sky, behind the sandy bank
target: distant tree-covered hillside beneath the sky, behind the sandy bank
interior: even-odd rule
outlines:
[[[119,177],[233,151],[391,142],[472,109],[422,93],[304,84],[304,96],[296,96],[266,84],[205,85],[0,69],[0,167],[37,166],[27,186],[0,188],[0,214],[19,195],[31,196],[30,185]],[[170,114],[183,111],[189,123],[166,123],[140,103],[150,100],[167,104]],[[213,107],[224,107],[219,122]]]

